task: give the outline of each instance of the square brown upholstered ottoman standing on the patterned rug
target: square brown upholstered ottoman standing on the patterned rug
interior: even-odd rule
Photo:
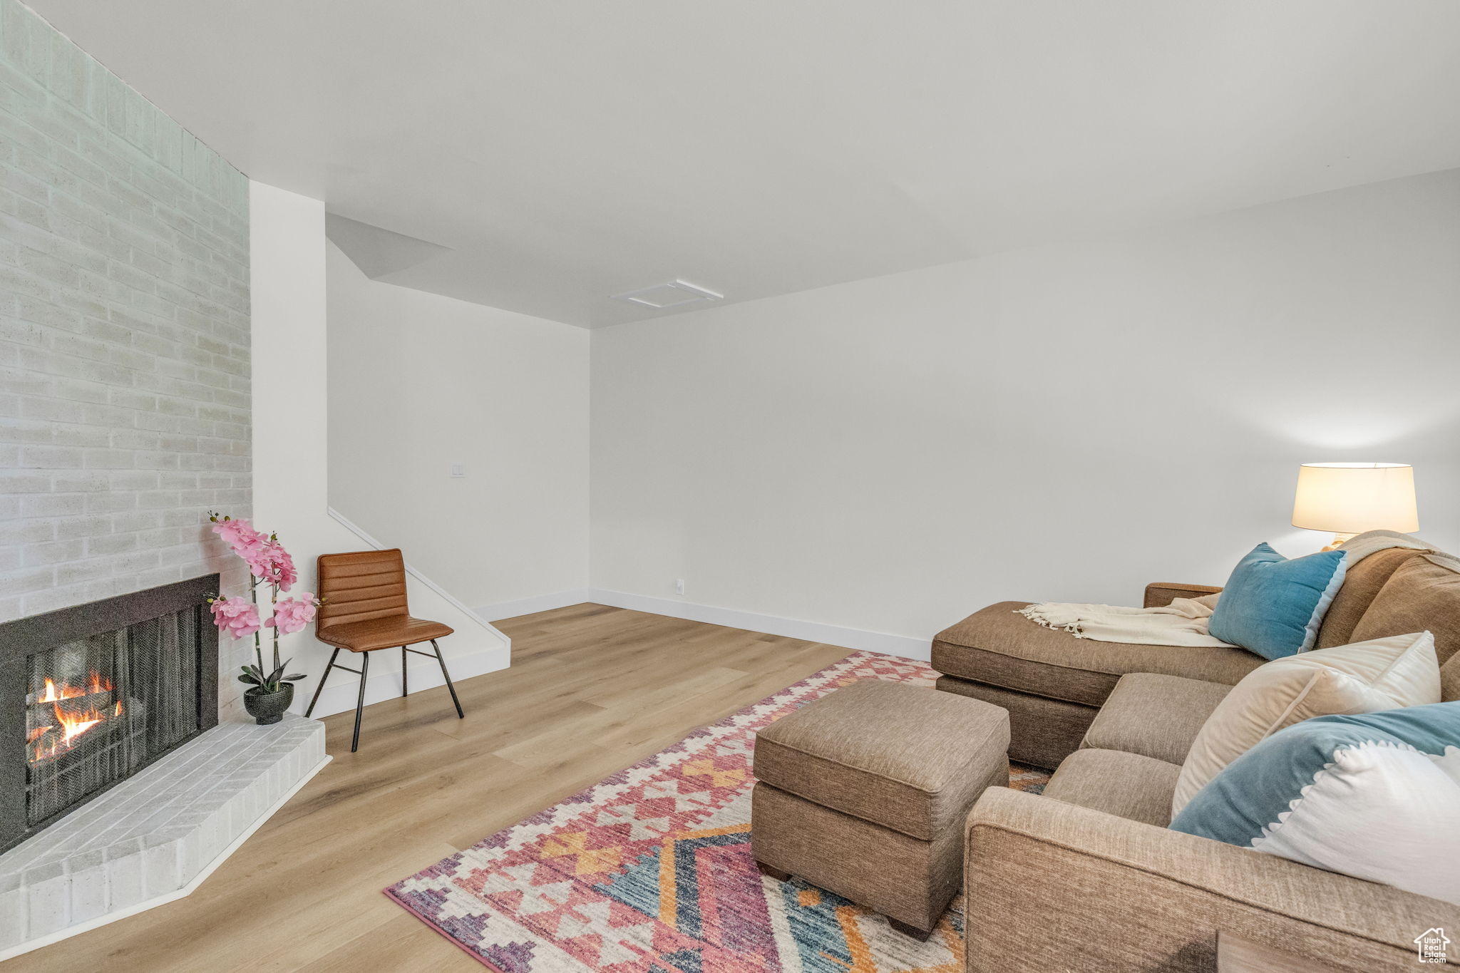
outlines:
[[[1009,786],[1009,713],[931,687],[867,680],[756,735],[750,845],[926,939],[964,877],[964,818]]]

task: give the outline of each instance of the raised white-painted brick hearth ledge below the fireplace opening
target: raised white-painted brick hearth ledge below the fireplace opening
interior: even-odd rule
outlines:
[[[220,722],[0,855],[0,960],[187,896],[330,761],[324,724]]]

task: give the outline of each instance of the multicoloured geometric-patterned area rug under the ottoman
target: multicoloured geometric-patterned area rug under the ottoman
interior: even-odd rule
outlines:
[[[961,973],[962,897],[927,942],[750,856],[755,731],[838,686],[931,684],[854,652],[385,890],[499,973]],[[1010,785],[1048,775],[1015,766]]]

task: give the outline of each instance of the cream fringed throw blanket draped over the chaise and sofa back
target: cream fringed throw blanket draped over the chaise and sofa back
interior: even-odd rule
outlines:
[[[1349,569],[1355,563],[1390,547],[1412,547],[1434,551],[1435,548],[1418,537],[1394,531],[1368,531],[1343,544],[1348,551]],[[1019,614],[1047,629],[1063,629],[1076,639],[1096,642],[1127,642],[1130,645],[1183,645],[1223,646],[1229,645],[1206,633],[1212,610],[1221,594],[1202,598],[1177,598],[1161,608],[1126,608],[1121,605],[1082,605],[1045,601],[1019,608]]]

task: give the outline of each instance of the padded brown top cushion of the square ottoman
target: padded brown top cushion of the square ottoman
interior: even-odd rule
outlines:
[[[756,779],[929,842],[1009,783],[1009,713],[927,686],[864,680],[756,734]]]

